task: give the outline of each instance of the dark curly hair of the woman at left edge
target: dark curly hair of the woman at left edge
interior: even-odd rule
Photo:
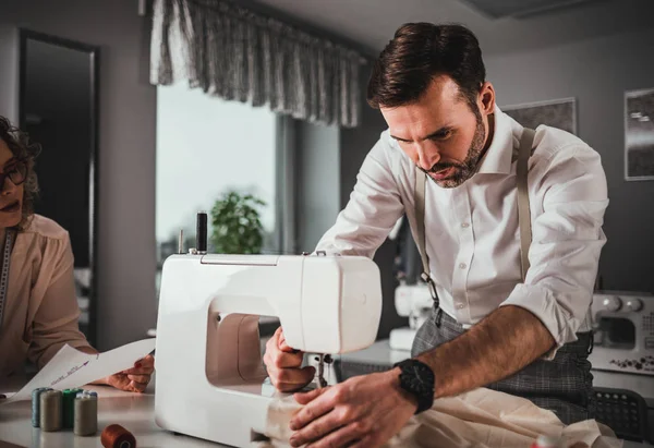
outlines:
[[[29,221],[34,215],[34,201],[38,195],[38,181],[34,171],[34,161],[41,148],[38,143],[29,141],[27,133],[12,125],[2,116],[0,116],[0,140],[7,144],[14,157],[24,160],[27,166],[27,177],[23,184],[23,218],[17,226],[19,230],[24,230],[29,226]]]

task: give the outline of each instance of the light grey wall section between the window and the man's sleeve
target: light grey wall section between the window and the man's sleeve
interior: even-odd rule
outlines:
[[[340,204],[338,126],[293,121],[295,125],[296,179],[302,185],[298,201],[300,252],[313,252],[323,233],[336,221]]]

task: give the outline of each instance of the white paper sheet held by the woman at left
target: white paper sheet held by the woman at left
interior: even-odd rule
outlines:
[[[65,344],[25,387],[13,395],[5,393],[8,398],[0,400],[0,405],[31,400],[37,387],[71,389],[132,368],[136,361],[155,350],[155,340],[143,339],[98,354],[83,353]]]

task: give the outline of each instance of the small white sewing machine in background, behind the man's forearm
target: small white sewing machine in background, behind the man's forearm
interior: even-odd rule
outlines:
[[[409,317],[409,327],[390,330],[389,344],[392,350],[411,351],[419,328],[429,316],[434,300],[426,283],[404,284],[396,289],[396,310],[400,316]]]

